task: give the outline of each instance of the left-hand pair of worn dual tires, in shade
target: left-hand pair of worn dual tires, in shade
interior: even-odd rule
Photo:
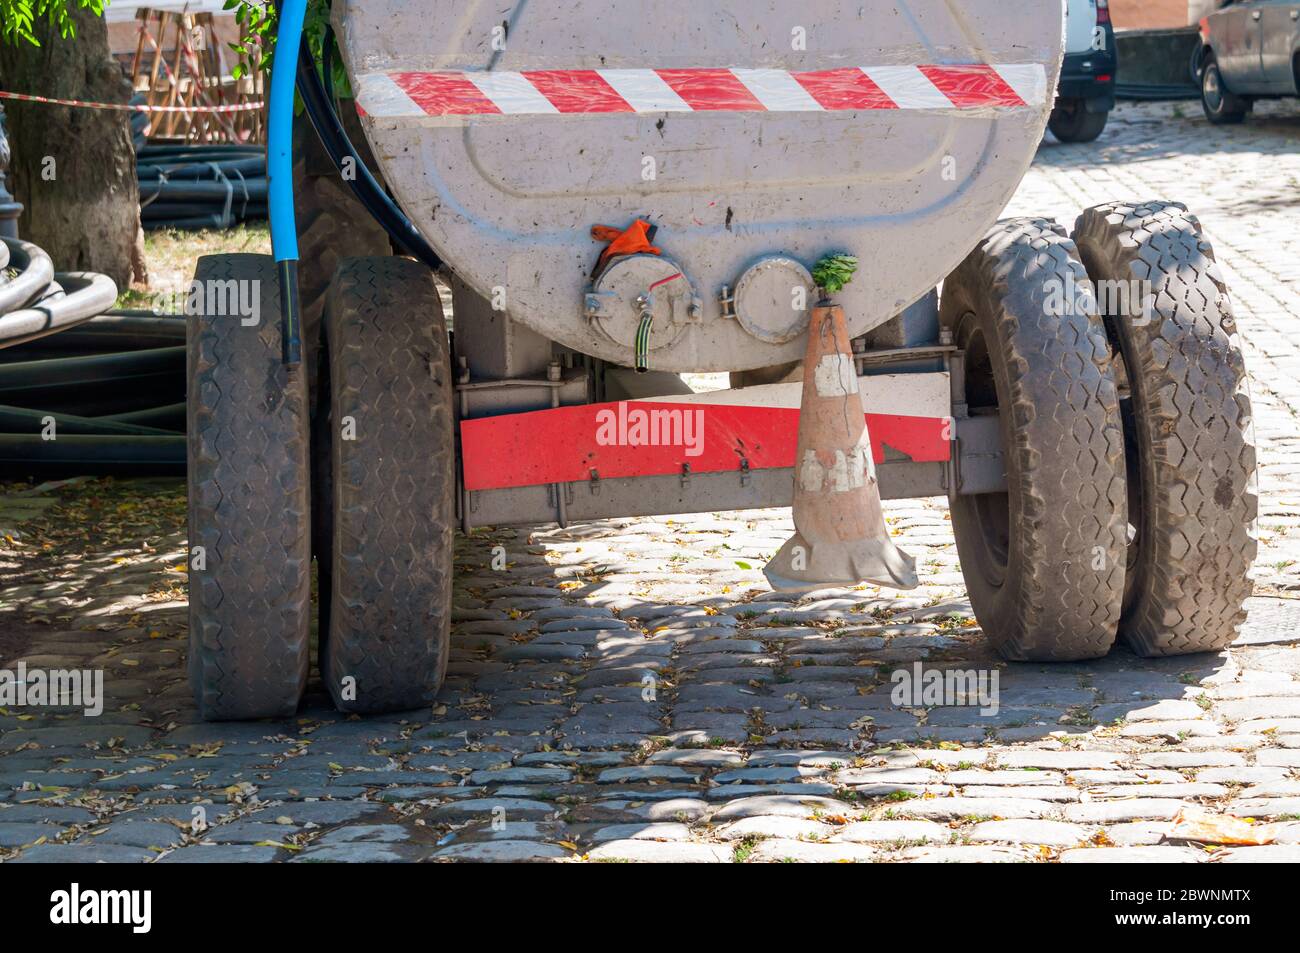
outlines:
[[[399,257],[339,264],[320,321],[315,413],[307,365],[280,361],[274,263],[207,257],[196,281],[260,295],[256,322],[200,313],[190,328],[190,675],[200,715],[298,707],[312,555],[318,668],[335,706],[430,705],[447,666],[455,527],[451,361],[433,276]]]

